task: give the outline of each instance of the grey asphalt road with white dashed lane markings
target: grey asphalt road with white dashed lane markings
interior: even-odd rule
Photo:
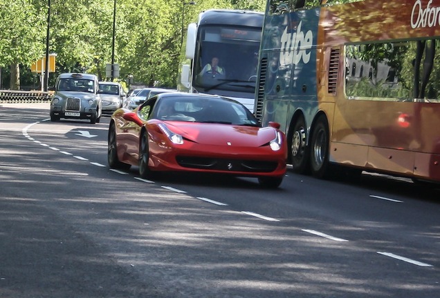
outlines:
[[[0,107],[0,297],[440,297],[440,191],[107,166],[108,118]]]

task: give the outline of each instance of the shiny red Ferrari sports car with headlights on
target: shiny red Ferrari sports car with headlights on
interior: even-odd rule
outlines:
[[[214,95],[162,93],[109,125],[110,168],[212,172],[257,177],[277,188],[286,172],[286,137],[277,123],[262,128],[241,103]]]

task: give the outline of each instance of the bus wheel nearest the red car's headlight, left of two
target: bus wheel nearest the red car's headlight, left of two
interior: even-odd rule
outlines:
[[[307,172],[309,150],[306,148],[306,122],[304,117],[297,119],[291,139],[291,162],[294,172]]]

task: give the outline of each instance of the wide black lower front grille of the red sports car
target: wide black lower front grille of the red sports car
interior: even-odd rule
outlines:
[[[176,159],[179,166],[203,170],[222,170],[227,172],[273,172],[277,168],[276,161],[183,156],[178,156]]]

